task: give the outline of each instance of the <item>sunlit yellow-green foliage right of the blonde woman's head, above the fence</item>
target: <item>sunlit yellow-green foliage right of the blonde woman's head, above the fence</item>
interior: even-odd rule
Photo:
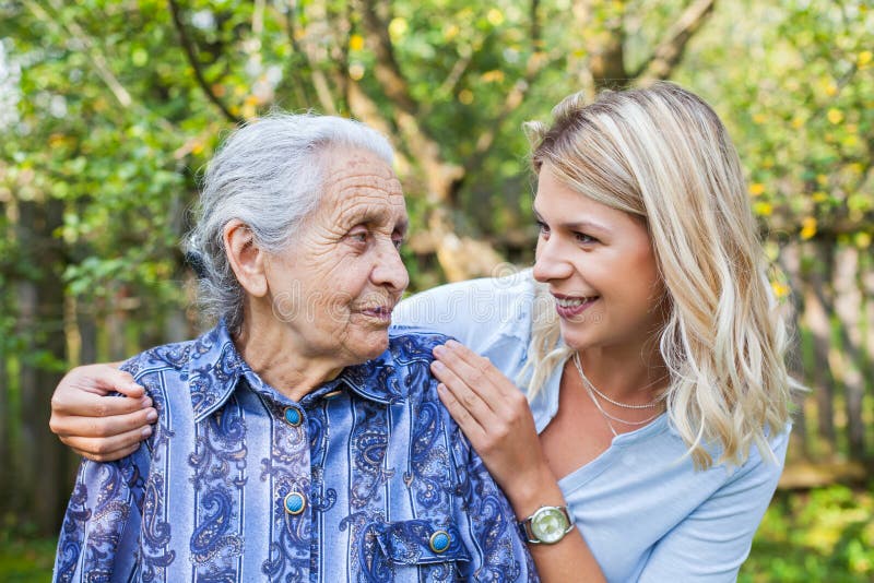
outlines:
[[[697,37],[677,79],[700,86],[729,123],[775,238],[826,234],[867,248],[874,11],[864,0],[740,4],[746,15],[720,37]]]

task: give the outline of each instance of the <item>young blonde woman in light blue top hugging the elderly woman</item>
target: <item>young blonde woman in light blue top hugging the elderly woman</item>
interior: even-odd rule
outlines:
[[[435,350],[440,396],[544,581],[733,581],[782,471],[793,386],[734,147],[666,83],[572,95],[529,129],[533,270],[420,294],[393,321],[459,340]],[[71,372],[52,429],[86,455],[135,447],[149,403],[97,396],[138,396],[126,382]]]

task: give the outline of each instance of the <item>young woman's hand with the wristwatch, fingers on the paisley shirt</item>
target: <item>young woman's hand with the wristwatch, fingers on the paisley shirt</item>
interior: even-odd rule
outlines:
[[[535,504],[555,485],[522,392],[492,362],[449,341],[434,349],[432,372],[446,408],[515,509]],[[521,512],[525,512],[521,510]]]

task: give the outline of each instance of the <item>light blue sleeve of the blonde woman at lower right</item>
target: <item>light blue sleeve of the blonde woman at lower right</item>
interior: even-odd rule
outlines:
[[[747,463],[653,547],[638,581],[736,581],[777,489],[789,432],[771,440],[777,463],[753,448]]]

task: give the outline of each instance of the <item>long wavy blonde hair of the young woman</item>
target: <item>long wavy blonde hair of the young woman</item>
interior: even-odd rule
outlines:
[[[525,124],[532,165],[550,163],[580,194],[642,217],[668,290],[659,348],[670,371],[662,395],[695,467],[741,465],[753,443],[773,459],[768,435],[790,417],[799,385],[784,364],[788,334],[734,145],[716,112],[670,83],[581,94]],[[534,307],[529,398],[572,350],[560,338],[544,286]],[[716,450],[713,449],[716,447]]]

